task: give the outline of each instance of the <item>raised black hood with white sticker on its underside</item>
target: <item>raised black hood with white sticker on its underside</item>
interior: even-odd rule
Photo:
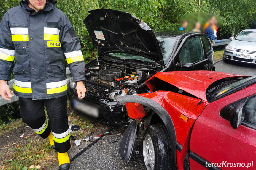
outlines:
[[[158,40],[145,22],[130,13],[112,9],[96,9],[89,13],[84,23],[99,55],[136,54],[164,65]]]

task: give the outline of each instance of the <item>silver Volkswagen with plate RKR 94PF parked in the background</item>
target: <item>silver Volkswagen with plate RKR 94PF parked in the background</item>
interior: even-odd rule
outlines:
[[[224,50],[223,61],[240,61],[256,64],[256,29],[242,30]]]

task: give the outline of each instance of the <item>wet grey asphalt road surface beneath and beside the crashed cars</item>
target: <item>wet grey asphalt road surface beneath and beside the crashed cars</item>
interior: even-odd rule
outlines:
[[[216,71],[252,76],[256,75],[256,65],[235,62],[225,63],[220,60],[216,61]],[[124,130],[114,129],[111,132],[123,133]],[[78,155],[77,158],[74,158],[74,161],[70,163],[70,170],[144,170],[141,150],[138,155],[135,153],[135,150],[140,149],[141,140],[136,139],[131,161],[127,164],[118,154],[121,139],[122,135],[106,135],[105,138],[95,141],[92,145],[85,148],[80,156]],[[110,143],[113,140],[116,142]]]

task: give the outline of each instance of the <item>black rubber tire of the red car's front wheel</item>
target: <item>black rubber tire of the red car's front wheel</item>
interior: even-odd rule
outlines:
[[[150,135],[155,150],[155,164],[153,170],[172,170],[173,160],[171,146],[165,126],[161,123],[150,124],[147,128],[146,134]],[[143,162],[147,169],[144,158]]]

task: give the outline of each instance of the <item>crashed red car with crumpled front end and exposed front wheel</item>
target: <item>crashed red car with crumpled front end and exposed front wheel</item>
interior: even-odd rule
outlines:
[[[135,120],[119,149],[127,163],[137,133],[148,170],[256,169],[256,76],[158,72],[146,84],[116,99]]]

